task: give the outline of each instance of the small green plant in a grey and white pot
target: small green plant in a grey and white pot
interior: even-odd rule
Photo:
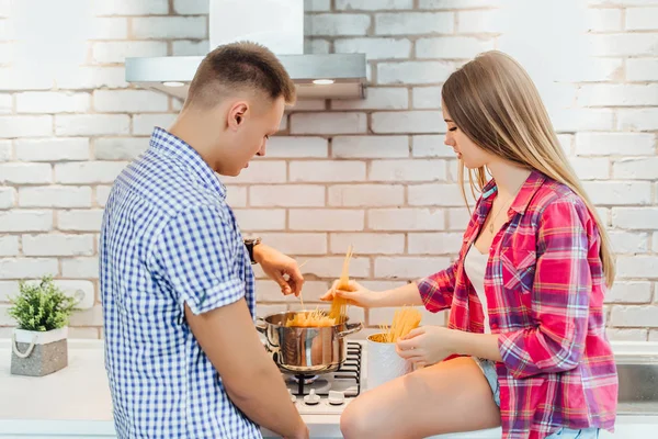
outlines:
[[[11,373],[43,376],[64,369],[68,364],[68,320],[76,300],[59,290],[49,275],[19,285],[19,295],[10,299],[9,308],[18,323],[12,336]]]

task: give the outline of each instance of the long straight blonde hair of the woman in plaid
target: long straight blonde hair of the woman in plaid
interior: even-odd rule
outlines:
[[[569,187],[586,203],[601,236],[605,283],[614,282],[614,256],[599,214],[565,156],[540,93],[525,69],[501,52],[486,52],[451,75],[441,91],[445,109],[461,131],[480,148],[536,169]],[[470,189],[487,183],[485,168],[468,171]],[[462,194],[464,165],[460,168]]]

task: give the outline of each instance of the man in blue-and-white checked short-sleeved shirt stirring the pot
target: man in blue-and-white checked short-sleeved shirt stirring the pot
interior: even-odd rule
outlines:
[[[253,325],[251,262],[284,294],[299,293],[302,275],[264,244],[243,245],[213,172],[237,176],[264,155],[294,94],[266,48],[219,46],[171,128],[156,127],[149,149],[116,179],[100,282],[120,438],[260,438],[259,425],[308,437]]]

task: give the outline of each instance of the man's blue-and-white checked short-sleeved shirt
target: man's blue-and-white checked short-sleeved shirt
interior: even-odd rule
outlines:
[[[225,188],[156,128],[117,178],[101,233],[105,363],[120,437],[260,437],[228,399],[184,318],[242,297],[253,273]]]

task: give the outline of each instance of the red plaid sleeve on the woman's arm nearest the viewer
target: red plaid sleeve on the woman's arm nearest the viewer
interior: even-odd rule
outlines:
[[[537,326],[500,334],[502,360],[518,379],[578,365],[585,349],[589,295],[589,239],[585,205],[570,199],[552,202],[542,213],[532,292]]]

